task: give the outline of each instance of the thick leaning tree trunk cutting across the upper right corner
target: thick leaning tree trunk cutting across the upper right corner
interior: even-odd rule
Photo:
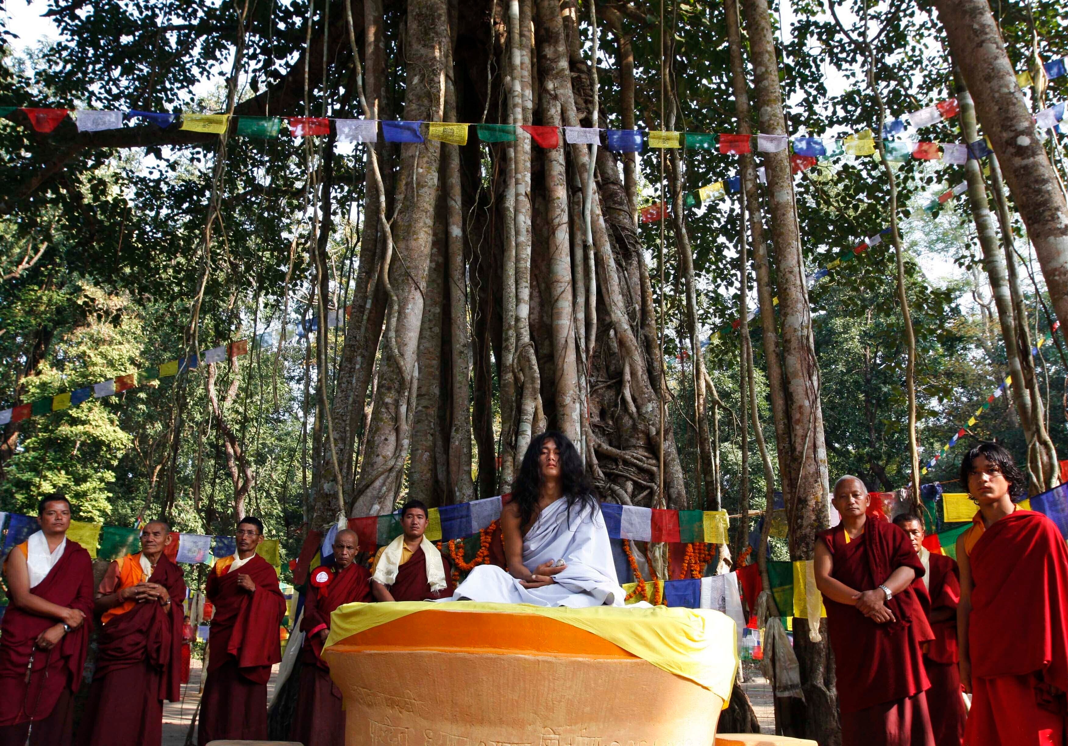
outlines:
[[[990,6],[986,0],[937,0],[934,6],[1035,245],[1064,329],[1068,322],[1068,205],[1016,83]]]

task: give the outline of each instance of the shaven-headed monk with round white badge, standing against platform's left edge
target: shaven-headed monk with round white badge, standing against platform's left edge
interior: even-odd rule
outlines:
[[[290,741],[304,746],[345,746],[345,713],[341,689],[330,679],[323,660],[323,646],[330,634],[330,613],[342,604],[368,602],[371,573],[357,565],[360,539],[356,531],[337,531],[333,543],[333,568],[316,568],[311,573],[304,599],[304,646],[300,650],[300,693],[294,713]]]

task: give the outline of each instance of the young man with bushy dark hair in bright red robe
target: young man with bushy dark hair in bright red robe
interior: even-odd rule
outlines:
[[[1056,525],[1016,505],[1026,479],[995,443],[972,448],[960,481],[978,504],[957,539],[960,683],[969,746],[1064,744],[1068,736],[1068,550]]]

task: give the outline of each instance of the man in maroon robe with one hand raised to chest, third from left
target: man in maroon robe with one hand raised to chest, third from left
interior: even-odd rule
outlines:
[[[208,634],[207,679],[201,697],[198,743],[267,740],[267,681],[282,660],[278,629],[285,597],[278,573],[256,554],[264,524],[237,524],[237,554],[222,557],[208,574],[206,596],[215,606]]]

